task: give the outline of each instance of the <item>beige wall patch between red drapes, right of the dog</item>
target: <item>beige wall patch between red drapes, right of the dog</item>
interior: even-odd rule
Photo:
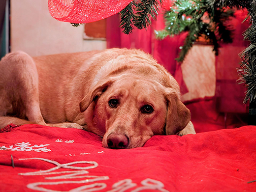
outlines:
[[[193,45],[181,68],[189,91],[181,96],[183,102],[215,95],[216,68],[212,46]]]

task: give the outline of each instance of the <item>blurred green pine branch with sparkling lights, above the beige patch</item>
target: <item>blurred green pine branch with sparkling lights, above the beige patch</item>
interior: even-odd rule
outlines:
[[[232,42],[231,31],[226,29],[224,21],[229,16],[233,16],[234,11],[224,11],[217,4],[215,0],[176,0],[171,9],[165,13],[166,27],[164,30],[156,31],[157,38],[163,39],[168,35],[173,36],[188,31],[184,46],[177,58],[179,62],[185,59],[192,44],[200,36],[209,39],[214,45],[213,51],[216,55],[218,55],[218,41]],[[208,17],[208,22],[204,22],[203,17]]]

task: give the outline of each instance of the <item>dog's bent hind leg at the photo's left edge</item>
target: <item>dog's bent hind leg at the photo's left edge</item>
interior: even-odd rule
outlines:
[[[40,111],[38,74],[32,57],[24,52],[8,54],[0,61],[0,69],[0,100],[6,103],[9,112],[28,118],[30,122],[46,125]],[[5,115],[8,110],[0,109],[0,115]]]

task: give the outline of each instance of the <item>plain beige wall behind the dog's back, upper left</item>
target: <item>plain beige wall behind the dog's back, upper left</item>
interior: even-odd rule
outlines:
[[[29,55],[71,53],[106,48],[101,40],[84,40],[84,26],[55,20],[47,0],[11,0],[11,51]]]

